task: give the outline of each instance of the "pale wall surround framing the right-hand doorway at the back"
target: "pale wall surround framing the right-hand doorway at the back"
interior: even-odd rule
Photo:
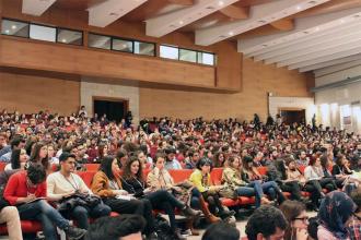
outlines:
[[[306,123],[311,123],[315,113],[313,97],[269,97],[269,113],[276,119],[280,108],[300,108],[306,110]]]

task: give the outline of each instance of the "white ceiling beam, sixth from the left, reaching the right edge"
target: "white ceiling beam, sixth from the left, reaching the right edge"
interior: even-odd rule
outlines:
[[[306,48],[313,48],[314,45],[329,41],[335,36],[350,36],[361,32],[361,23],[345,24],[340,27],[330,28],[327,31],[311,34],[299,39],[287,41],[284,44],[276,45],[256,52],[253,52],[255,61],[266,60],[265,63],[273,63],[280,60],[287,59],[289,55],[296,53],[300,50],[307,50]],[[310,50],[310,49],[308,49]],[[266,52],[265,52],[266,51]],[[284,58],[284,59],[283,59]]]

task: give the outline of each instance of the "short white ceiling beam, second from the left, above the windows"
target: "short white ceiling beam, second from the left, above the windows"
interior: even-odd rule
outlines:
[[[148,0],[107,0],[88,9],[89,25],[105,27]]]

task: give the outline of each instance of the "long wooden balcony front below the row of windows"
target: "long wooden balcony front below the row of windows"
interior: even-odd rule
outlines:
[[[214,68],[1,36],[0,64],[80,75],[214,87]]]

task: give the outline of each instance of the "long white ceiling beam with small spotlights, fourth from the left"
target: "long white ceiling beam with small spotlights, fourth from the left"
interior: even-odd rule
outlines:
[[[266,4],[253,5],[249,10],[251,17],[247,20],[196,31],[196,44],[209,46],[327,1],[329,0],[278,0]]]

